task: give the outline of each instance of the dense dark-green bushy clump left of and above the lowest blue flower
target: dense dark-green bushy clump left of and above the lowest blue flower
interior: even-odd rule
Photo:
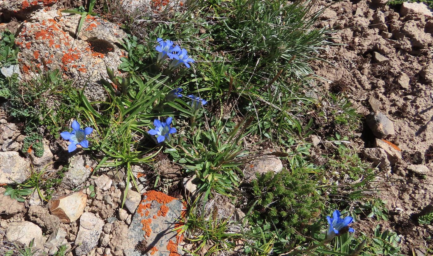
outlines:
[[[258,175],[252,181],[253,210],[250,220],[270,224],[271,232],[282,232],[288,241],[304,241],[308,226],[324,205],[317,185],[307,173],[282,170]],[[281,245],[280,245],[281,246]]]

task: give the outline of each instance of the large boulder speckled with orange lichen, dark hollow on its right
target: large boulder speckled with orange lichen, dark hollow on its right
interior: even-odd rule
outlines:
[[[120,57],[127,56],[116,45],[126,33],[114,23],[87,16],[75,39],[80,18],[79,14],[59,17],[56,10],[40,10],[24,22],[16,38],[22,73],[31,78],[38,69],[59,69],[76,81],[74,86],[85,87],[90,100],[104,99],[101,80],[108,80],[106,66],[117,72]]]

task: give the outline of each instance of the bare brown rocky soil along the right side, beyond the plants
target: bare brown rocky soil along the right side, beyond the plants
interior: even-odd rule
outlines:
[[[320,26],[338,29],[314,66],[322,88],[345,93],[365,116],[358,141],[365,159],[383,172],[381,197],[402,235],[404,253],[425,253],[431,225],[416,217],[433,208],[433,12],[423,3],[388,6],[386,1],[341,1]],[[326,6],[326,1],[319,1]],[[364,221],[371,232],[374,223]],[[424,254],[419,254],[424,255]]]

